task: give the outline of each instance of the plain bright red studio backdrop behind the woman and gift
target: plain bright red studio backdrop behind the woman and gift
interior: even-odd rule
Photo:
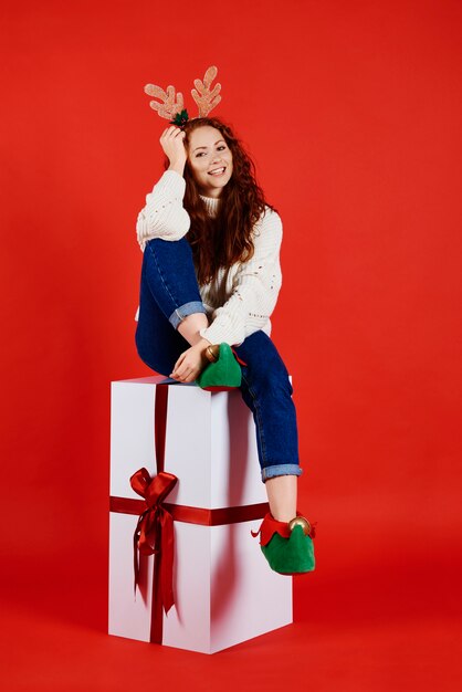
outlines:
[[[458,0],[3,3],[6,690],[461,689],[461,20]],[[203,657],[105,628],[109,385],[149,375],[135,222],[167,124],[143,87],[193,111],[210,64],[283,221],[273,338],[318,533],[295,625]]]

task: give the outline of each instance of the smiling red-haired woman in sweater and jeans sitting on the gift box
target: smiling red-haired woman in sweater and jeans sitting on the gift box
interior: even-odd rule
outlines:
[[[296,512],[302,469],[293,389],[270,338],[282,284],[281,218],[221,119],[171,125],[160,145],[166,170],[137,220],[138,355],[157,373],[192,382],[216,366],[219,345],[220,354],[222,345],[233,347],[271,510],[260,528],[262,552],[275,572],[311,572],[314,534]],[[214,384],[227,385],[227,377]]]

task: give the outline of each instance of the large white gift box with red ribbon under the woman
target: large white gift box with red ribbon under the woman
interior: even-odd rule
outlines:
[[[134,533],[146,502],[130,478],[143,468],[178,479],[164,502],[175,536],[168,612],[157,602],[164,548],[139,556],[134,591]],[[210,392],[161,376],[112,382],[111,496],[111,635],[214,653],[293,621],[292,577],[272,572],[251,534],[266,493],[238,389]]]

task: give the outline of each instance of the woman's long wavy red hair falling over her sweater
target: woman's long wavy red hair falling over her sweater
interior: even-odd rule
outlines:
[[[187,239],[192,249],[199,285],[216,279],[220,268],[249,260],[254,251],[252,230],[255,223],[266,206],[276,211],[266,202],[255,179],[255,165],[229,125],[214,117],[189,120],[183,126],[185,146],[188,148],[189,135],[204,125],[219,129],[231,149],[232,176],[221,192],[219,212],[212,219],[199,197],[200,190],[189,162],[185,167],[183,206],[191,219]]]

